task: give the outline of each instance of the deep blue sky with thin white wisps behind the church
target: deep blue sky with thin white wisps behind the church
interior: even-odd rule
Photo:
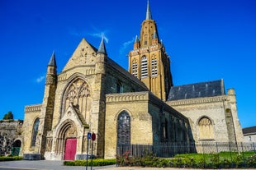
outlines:
[[[174,85],[224,79],[235,88],[242,127],[256,119],[256,1],[149,0],[171,57]],[[1,0],[0,118],[42,103],[45,72],[55,51],[60,72],[84,37],[128,68],[126,55],[145,20],[146,0]]]

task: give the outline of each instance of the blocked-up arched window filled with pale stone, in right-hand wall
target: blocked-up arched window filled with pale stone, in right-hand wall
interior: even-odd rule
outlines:
[[[213,126],[212,122],[207,117],[202,117],[198,122],[199,140],[213,140]]]

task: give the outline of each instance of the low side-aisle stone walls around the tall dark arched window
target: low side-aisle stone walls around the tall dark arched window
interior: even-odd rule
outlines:
[[[122,112],[130,116],[131,145],[154,145],[171,141],[171,136],[176,136],[178,141],[189,141],[187,117],[183,117],[150,92],[107,94],[105,159],[115,158],[117,118]],[[171,119],[176,120],[177,131],[165,132],[164,126],[168,126],[169,129],[173,128],[174,122],[172,123]],[[178,137],[178,134],[183,137]]]

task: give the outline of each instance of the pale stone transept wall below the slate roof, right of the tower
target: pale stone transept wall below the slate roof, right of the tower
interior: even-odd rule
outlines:
[[[235,90],[230,89],[227,95],[208,98],[183,99],[168,101],[174,109],[189,117],[193,138],[198,141],[243,142],[243,133],[237,116]],[[200,137],[199,121],[207,117],[212,122],[212,136],[209,139]],[[203,131],[201,131],[203,133]]]

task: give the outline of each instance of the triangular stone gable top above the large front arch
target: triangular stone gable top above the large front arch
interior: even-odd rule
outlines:
[[[83,38],[69,58],[69,62],[67,62],[63,71],[67,71],[73,67],[95,64],[96,54],[97,48],[93,47]]]

